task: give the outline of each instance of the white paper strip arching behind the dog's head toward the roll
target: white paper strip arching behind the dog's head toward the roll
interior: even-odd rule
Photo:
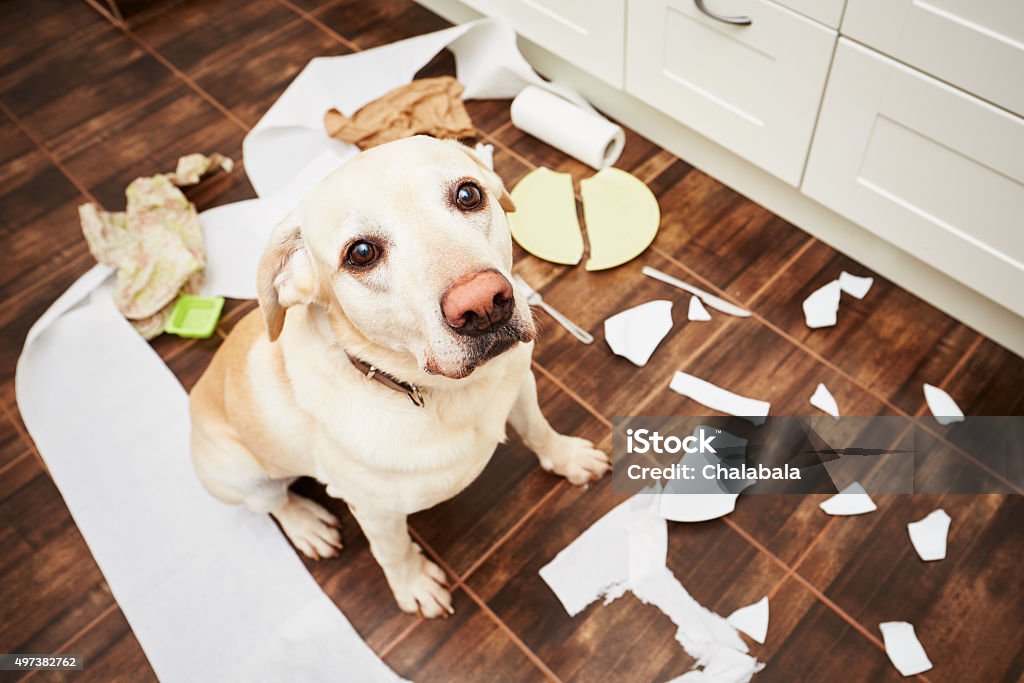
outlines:
[[[465,99],[511,98],[534,85],[558,93],[573,115],[589,111],[592,121],[613,125],[571,89],[538,76],[516,47],[515,32],[508,24],[479,19],[355,54],[311,59],[243,142],[246,173],[256,194],[263,197],[285,186],[322,155],[335,158],[337,164],[354,154],[353,145],[328,137],[324,113],[333,108],[350,116],[412,81],[444,48],[455,53]]]

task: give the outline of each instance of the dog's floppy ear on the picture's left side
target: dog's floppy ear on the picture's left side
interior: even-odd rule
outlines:
[[[270,341],[281,335],[289,306],[315,300],[315,282],[298,211],[293,211],[273,228],[257,271],[259,307]]]

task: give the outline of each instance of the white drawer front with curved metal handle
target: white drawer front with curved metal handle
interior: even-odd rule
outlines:
[[[799,184],[836,32],[768,0],[630,0],[626,89]]]

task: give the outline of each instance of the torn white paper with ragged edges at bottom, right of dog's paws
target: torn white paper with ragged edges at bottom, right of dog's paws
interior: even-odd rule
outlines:
[[[764,665],[746,654],[736,629],[694,600],[666,566],[668,527],[657,514],[658,498],[638,494],[620,504],[542,567],[541,578],[570,616],[627,591],[660,609],[676,625],[676,640],[697,660],[697,669],[674,680],[745,683]]]

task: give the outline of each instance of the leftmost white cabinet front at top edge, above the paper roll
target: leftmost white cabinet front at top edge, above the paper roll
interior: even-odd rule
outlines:
[[[465,0],[616,88],[623,87],[626,0]]]

